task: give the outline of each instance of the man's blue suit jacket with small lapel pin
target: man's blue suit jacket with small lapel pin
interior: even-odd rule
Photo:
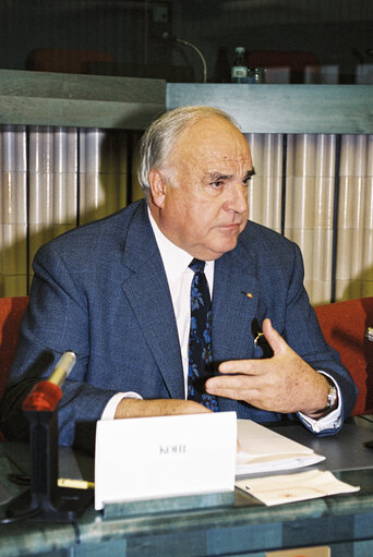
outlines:
[[[1,410],[8,436],[24,437],[20,403],[65,350],[77,362],[59,407],[63,445],[86,445],[80,427],[95,423],[118,391],[184,398],[172,302],[144,201],[52,240],[38,251],[34,271]],[[347,416],[356,387],[323,339],[303,288],[298,246],[249,221],[237,247],[216,261],[213,361],[262,358],[254,336],[266,316],[305,361],[335,377]],[[282,417],[228,399],[219,400],[219,410],[258,422]]]

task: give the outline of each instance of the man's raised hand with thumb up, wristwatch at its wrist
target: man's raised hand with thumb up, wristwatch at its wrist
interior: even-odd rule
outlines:
[[[287,344],[268,318],[263,322],[263,334],[274,355],[222,362],[219,372],[224,375],[208,379],[206,391],[243,400],[262,410],[303,412],[315,417],[317,410],[327,403],[327,379]]]

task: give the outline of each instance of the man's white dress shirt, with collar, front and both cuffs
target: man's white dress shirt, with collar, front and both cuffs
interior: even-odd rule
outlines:
[[[190,331],[190,319],[191,319],[191,307],[190,307],[190,292],[194,273],[189,268],[193,257],[181,247],[175,245],[157,227],[154,218],[148,210],[151,225],[153,232],[158,245],[158,250],[161,256],[161,261],[165,267],[168,287],[171,294],[175,317],[178,327],[179,343],[181,350],[182,368],[184,374],[184,392],[185,398],[188,393],[188,344],[189,344],[189,331]],[[213,283],[214,283],[214,261],[206,262],[205,275],[209,288],[210,298],[213,299]],[[324,373],[324,372],[320,372]],[[327,373],[324,375],[328,376]],[[329,376],[328,376],[329,377]],[[332,377],[330,377],[332,379]],[[333,379],[332,379],[333,380]],[[301,412],[298,413],[300,420],[304,421],[315,433],[330,427],[337,428],[341,419],[340,411],[340,391],[338,385],[338,407],[320,420],[313,420]],[[117,405],[123,398],[136,398],[142,399],[137,392],[118,392],[107,403],[104,409],[101,420],[112,420]]]

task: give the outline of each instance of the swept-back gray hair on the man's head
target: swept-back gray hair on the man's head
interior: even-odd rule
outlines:
[[[181,132],[190,124],[218,116],[238,128],[237,122],[224,110],[213,107],[180,107],[166,112],[155,120],[145,131],[140,143],[140,168],[137,172],[140,185],[149,195],[148,175],[152,168],[160,170],[172,152]]]

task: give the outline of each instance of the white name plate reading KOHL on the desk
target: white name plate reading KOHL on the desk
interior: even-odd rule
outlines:
[[[106,504],[233,492],[236,412],[100,420],[95,509]]]

